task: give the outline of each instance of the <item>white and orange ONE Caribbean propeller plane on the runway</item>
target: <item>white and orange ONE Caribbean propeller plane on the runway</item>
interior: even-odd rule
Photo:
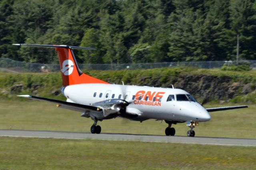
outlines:
[[[50,47],[58,52],[66,101],[47,99],[31,95],[19,95],[28,99],[56,103],[57,107],[82,112],[81,117],[91,118],[92,133],[99,134],[98,121],[121,117],[132,121],[148,119],[164,120],[167,136],[174,136],[172,124],[185,123],[190,127],[187,136],[195,136],[193,128],[199,122],[210,121],[208,112],[239,109],[247,106],[204,109],[202,105],[182,89],[115,85],[82,73],[76,62],[73,49],[94,49],[69,45],[13,44],[32,47]]]

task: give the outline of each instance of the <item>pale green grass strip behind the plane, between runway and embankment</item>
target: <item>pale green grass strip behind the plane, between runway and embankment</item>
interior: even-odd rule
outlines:
[[[206,105],[206,108],[220,105]],[[230,104],[222,105],[230,106]],[[249,108],[210,113],[212,120],[199,123],[194,128],[196,136],[256,138],[256,105]],[[80,117],[79,112],[56,108],[48,102],[31,100],[0,101],[0,129],[57,130],[90,132],[93,121]],[[167,124],[148,120],[142,123],[127,119],[111,119],[99,122],[102,132],[165,135]],[[186,136],[185,123],[173,125],[177,136]]]

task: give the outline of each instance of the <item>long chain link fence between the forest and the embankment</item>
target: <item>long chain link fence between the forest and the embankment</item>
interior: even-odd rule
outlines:
[[[256,61],[240,61],[250,64],[250,68],[256,69]],[[196,67],[200,69],[221,68],[224,64],[232,65],[232,61],[202,61],[202,62],[170,62],[170,63],[137,63],[137,64],[79,64],[82,70],[122,70],[122,69],[152,69],[162,67]],[[11,72],[57,72],[58,64],[38,64],[14,61],[8,58],[0,58],[0,69]]]

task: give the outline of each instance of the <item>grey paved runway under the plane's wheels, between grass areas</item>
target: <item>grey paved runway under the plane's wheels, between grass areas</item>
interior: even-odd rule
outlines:
[[[228,145],[228,146],[256,146],[256,139],[160,136],[160,135],[144,135],[144,134],[116,134],[116,133],[91,134],[88,132],[0,130],[0,136],[31,137],[31,138],[35,137],[35,138],[65,138],[65,139],[126,140],[126,141],[141,141],[141,142],[212,144],[212,145]]]

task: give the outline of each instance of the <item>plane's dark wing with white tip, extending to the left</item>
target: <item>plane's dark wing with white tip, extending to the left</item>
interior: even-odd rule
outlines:
[[[48,99],[44,97],[36,97],[36,96],[30,96],[30,95],[18,95],[18,97],[25,97],[28,99],[33,99],[33,100],[38,100],[38,101],[48,101],[51,103],[57,104],[57,107],[64,108],[64,109],[69,109],[72,111],[79,111],[79,112],[84,112],[84,111],[98,111],[101,112],[102,109],[99,107],[95,106],[88,106],[88,105],[81,105],[78,103],[70,103],[66,101],[60,101],[60,100],[55,100],[55,99]]]

